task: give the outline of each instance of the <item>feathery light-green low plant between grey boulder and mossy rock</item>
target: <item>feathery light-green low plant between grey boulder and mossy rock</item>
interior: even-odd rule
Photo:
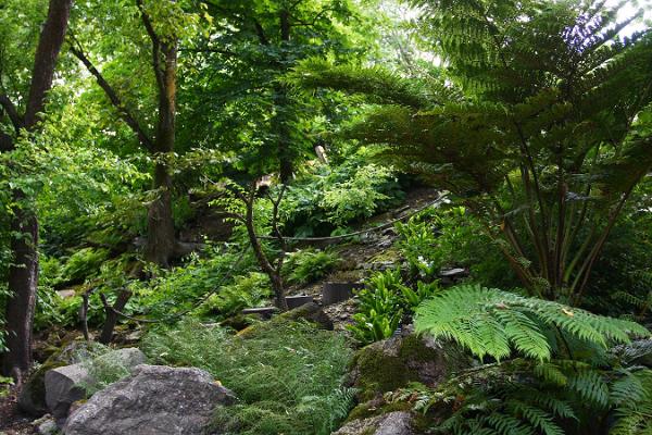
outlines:
[[[326,435],[351,405],[342,380],[352,350],[308,323],[275,320],[243,338],[188,321],[150,333],[142,347],[154,360],[204,369],[236,393],[239,403],[216,415],[226,434]]]

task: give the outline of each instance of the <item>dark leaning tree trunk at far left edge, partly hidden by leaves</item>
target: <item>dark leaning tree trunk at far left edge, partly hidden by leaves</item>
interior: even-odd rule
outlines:
[[[54,67],[67,29],[73,0],[50,0],[48,17],[41,29],[34,69],[29,97],[22,125],[16,129],[35,129],[38,114],[46,105],[46,94],[52,87]],[[13,145],[11,146],[13,148]],[[38,220],[35,210],[21,190],[13,191],[16,206],[11,228],[20,237],[11,240],[13,254],[9,269],[9,289],[12,293],[7,303],[7,347],[3,357],[3,373],[21,381],[21,374],[32,365],[32,326],[38,286]]]

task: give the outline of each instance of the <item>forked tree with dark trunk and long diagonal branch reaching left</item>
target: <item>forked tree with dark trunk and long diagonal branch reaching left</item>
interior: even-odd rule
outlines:
[[[186,14],[173,0],[155,4],[136,0],[136,7],[151,45],[150,66],[155,80],[158,104],[156,109],[152,108],[155,115],[149,119],[155,119],[155,133],[148,130],[147,121],[141,121],[143,116],[136,115],[129,104],[125,103],[123,96],[98,71],[76,37],[71,38],[71,51],[96,78],[122,121],[137,137],[140,147],[154,160],[155,197],[149,204],[145,257],[148,261],[165,266],[174,257],[176,248],[172,211],[173,181],[167,160],[174,151],[176,137],[178,45],[183,29],[191,26],[196,16]],[[123,80],[125,78],[121,77]]]

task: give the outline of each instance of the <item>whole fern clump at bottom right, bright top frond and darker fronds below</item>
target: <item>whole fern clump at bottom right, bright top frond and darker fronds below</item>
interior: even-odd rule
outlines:
[[[465,284],[423,302],[415,326],[497,360],[457,373],[432,391],[426,408],[443,414],[435,432],[652,431],[652,371],[635,363],[637,349],[649,346],[630,344],[631,336],[650,333],[635,322]]]

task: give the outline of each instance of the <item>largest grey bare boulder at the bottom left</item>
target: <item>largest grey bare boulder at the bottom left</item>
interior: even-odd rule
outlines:
[[[199,369],[138,365],[68,417],[66,435],[196,435],[233,393]]]

